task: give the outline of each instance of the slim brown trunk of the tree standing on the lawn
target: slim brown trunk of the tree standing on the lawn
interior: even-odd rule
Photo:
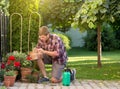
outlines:
[[[101,64],[101,26],[100,24],[98,24],[98,28],[97,28],[97,42],[98,42],[98,47],[97,47],[97,53],[98,53],[98,62],[97,62],[97,66],[100,68],[102,67],[102,64]]]

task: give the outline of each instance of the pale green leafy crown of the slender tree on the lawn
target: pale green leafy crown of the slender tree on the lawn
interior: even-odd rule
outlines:
[[[85,30],[88,27],[96,28],[97,24],[103,22],[114,22],[120,13],[119,3],[118,0],[85,0],[77,12],[72,26]]]

